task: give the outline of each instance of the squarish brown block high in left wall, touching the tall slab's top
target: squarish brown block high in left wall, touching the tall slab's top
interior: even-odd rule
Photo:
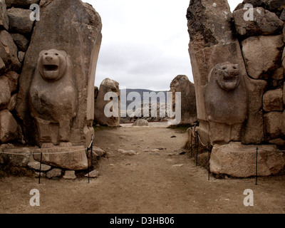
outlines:
[[[9,31],[21,34],[31,33],[34,22],[30,19],[31,10],[12,8],[7,11],[9,17]]]

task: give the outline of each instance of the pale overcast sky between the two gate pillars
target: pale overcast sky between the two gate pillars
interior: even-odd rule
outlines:
[[[190,0],[83,0],[103,23],[95,86],[169,90],[177,75],[193,82],[186,12]],[[233,10],[242,0],[229,0]]]

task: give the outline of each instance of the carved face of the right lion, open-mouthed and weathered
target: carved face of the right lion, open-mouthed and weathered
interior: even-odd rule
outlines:
[[[215,78],[219,87],[223,90],[235,90],[240,82],[239,65],[233,63],[217,64],[215,67]]]

